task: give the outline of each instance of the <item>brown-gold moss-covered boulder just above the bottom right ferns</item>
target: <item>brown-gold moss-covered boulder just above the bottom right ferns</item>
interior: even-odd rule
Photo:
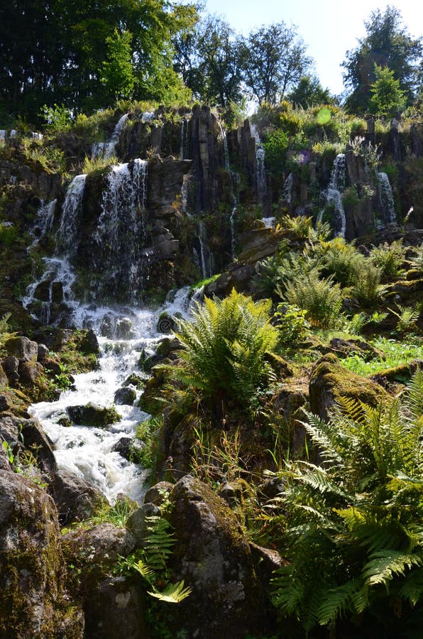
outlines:
[[[361,400],[370,406],[389,399],[388,393],[382,386],[347,371],[339,364],[336,355],[328,354],[312,367],[309,379],[309,402],[312,413],[326,420],[329,409],[336,403],[338,397]]]

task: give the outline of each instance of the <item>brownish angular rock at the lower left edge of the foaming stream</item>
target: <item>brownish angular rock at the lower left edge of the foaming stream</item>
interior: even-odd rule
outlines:
[[[55,473],[48,492],[55,501],[62,525],[88,519],[104,501],[104,495],[92,484],[63,470]]]

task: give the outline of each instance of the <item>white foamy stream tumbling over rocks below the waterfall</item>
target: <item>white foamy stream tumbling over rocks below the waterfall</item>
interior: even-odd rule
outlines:
[[[99,337],[101,356],[97,371],[75,376],[75,390],[64,391],[55,402],[33,404],[29,412],[38,417],[43,429],[53,442],[59,469],[77,474],[98,488],[114,503],[119,493],[141,503],[148,471],[121,457],[114,447],[121,437],[133,437],[136,427],[148,415],[136,404],[140,391],[136,391],[133,405],[116,405],[121,420],[106,428],[86,425],[62,426],[61,417],[70,406],[89,402],[101,407],[114,404],[116,391],[131,373],[140,373],[138,363],[143,354],[152,354],[158,341],[165,337],[157,329],[163,310],[170,315],[189,315],[189,288],[171,292],[169,300],[158,310],[123,309],[78,305],[75,302],[74,320],[80,327],[91,327],[97,334],[126,331],[126,339]]]

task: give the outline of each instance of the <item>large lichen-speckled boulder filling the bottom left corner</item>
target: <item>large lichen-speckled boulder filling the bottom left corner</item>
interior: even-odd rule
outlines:
[[[0,636],[82,639],[82,612],[67,602],[64,577],[53,499],[0,470]]]

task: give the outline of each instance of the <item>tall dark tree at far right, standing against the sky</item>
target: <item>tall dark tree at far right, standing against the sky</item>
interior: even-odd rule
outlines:
[[[412,103],[419,88],[422,38],[411,38],[401,23],[401,13],[395,7],[387,6],[385,13],[380,9],[373,11],[365,22],[367,35],[358,40],[356,49],[346,52],[342,66],[346,70],[344,83],[352,89],[346,100],[349,111],[368,111],[370,87],[376,80],[375,63],[392,71],[405,92],[407,104]]]

